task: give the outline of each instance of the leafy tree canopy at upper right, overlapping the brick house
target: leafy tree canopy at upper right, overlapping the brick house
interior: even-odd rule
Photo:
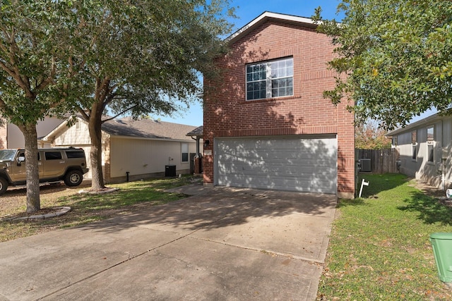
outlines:
[[[324,97],[348,99],[357,123],[388,129],[432,107],[451,113],[452,1],[343,0],[338,12],[340,24],[320,8],[314,16],[336,45],[329,64],[339,75]]]

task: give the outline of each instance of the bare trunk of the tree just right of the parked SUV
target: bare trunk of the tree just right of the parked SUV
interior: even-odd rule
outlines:
[[[94,104],[93,104],[94,106]],[[93,110],[95,111],[95,110]],[[104,175],[102,173],[102,114],[90,116],[88,128],[91,138],[91,189],[101,190],[105,188]]]

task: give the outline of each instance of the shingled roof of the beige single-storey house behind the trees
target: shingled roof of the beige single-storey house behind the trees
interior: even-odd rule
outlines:
[[[133,120],[129,117],[116,118],[102,123],[102,130],[109,135],[140,137],[148,139],[191,140],[186,133],[196,126],[155,121],[152,119]]]

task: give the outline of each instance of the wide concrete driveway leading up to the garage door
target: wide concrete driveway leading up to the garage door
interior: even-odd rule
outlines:
[[[334,195],[178,188],[177,202],[0,243],[0,300],[315,300]]]

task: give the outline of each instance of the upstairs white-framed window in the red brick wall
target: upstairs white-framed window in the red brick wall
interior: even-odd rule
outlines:
[[[294,59],[246,65],[246,100],[292,96]]]

